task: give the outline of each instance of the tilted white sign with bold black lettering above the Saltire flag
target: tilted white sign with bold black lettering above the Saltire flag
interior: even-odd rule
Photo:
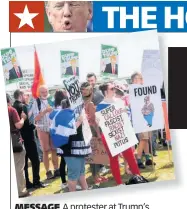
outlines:
[[[79,117],[83,108],[83,98],[80,90],[80,84],[77,77],[72,76],[63,80],[67,91],[67,96],[71,104],[71,109],[75,110],[76,118]]]

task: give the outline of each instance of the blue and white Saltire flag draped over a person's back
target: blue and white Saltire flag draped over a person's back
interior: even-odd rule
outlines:
[[[69,136],[77,133],[75,114],[70,109],[55,109],[49,118],[52,120],[50,136],[55,147],[61,147],[68,143]]]

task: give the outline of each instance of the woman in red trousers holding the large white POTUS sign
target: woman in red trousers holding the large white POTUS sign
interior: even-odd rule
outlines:
[[[100,86],[100,90],[102,91],[102,93],[104,95],[104,100],[103,100],[103,102],[101,102],[97,106],[97,109],[96,109],[97,112],[99,112],[101,110],[104,110],[105,108],[110,107],[113,104],[115,105],[115,104],[120,104],[121,103],[122,106],[124,106],[124,104],[121,100],[115,98],[114,85],[112,83],[102,84]],[[125,127],[121,127],[121,128],[123,129]],[[112,156],[112,153],[111,153],[111,151],[109,149],[109,146],[107,145],[107,142],[106,142],[106,139],[105,139],[105,133],[101,133],[101,136],[102,136],[103,144],[104,144],[104,146],[107,150],[107,153],[108,153],[108,156],[109,156],[109,159],[110,159],[110,167],[111,167],[112,175],[115,178],[116,183],[118,185],[120,185],[120,184],[122,184],[122,180],[121,180],[121,176],[120,176],[118,155]],[[125,139],[127,139],[127,137]],[[122,155],[127,160],[128,164],[129,164],[129,167],[132,171],[132,174],[138,174],[139,175],[140,171],[138,169],[137,162],[135,160],[135,156],[133,154],[132,149],[129,148],[129,149],[123,151]]]

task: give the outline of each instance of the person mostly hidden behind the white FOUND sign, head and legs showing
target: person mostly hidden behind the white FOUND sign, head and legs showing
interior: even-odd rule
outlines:
[[[141,84],[143,85],[143,77],[140,73],[134,73],[131,76],[131,81],[132,84]],[[150,152],[149,152],[149,140],[151,138],[151,132],[144,132],[138,134],[138,138],[140,140],[140,143],[138,145],[138,153],[137,153],[137,161],[138,161],[138,166],[139,168],[144,169],[145,165],[143,164],[141,158],[142,158],[142,153],[145,153],[145,158],[146,158],[146,165],[152,165],[153,162],[150,159]]]

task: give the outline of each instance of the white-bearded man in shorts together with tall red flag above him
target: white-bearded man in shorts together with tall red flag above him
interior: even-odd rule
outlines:
[[[45,81],[41,72],[38,54],[35,48],[34,52],[35,61],[35,73],[32,85],[32,95],[36,99],[32,106],[32,112],[34,120],[36,122],[37,135],[40,140],[43,151],[43,162],[46,169],[47,179],[60,176],[58,169],[58,157],[56,155],[56,149],[50,138],[50,119],[49,113],[52,111],[52,107],[48,103],[48,88],[45,86]],[[49,153],[52,154],[52,163],[54,167],[54,174],[49,169]]]

